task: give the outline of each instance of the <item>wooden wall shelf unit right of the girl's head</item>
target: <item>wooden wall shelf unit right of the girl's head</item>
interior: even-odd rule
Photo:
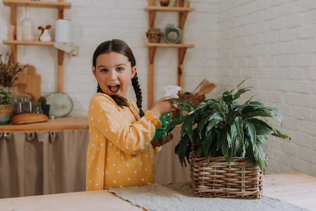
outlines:
[[[154,21],[157,12],[176,12],[178,13],[178,27],[183,30],[186,18],[189,12],[194,8],[184,7],[184,0],[179,0],[178,7],[161,7],[154,6],[154,0],[148,0],[148,7],[144,11],[148,12],[148,28],[154,28]],[[188,48],[194,48],[194,45],[184,44],[184,32],[182,31],[182,39],[178,44],[167,43],[146,43],[144,47],[148,48],[148,108],[153,105],[153,85],[154,85],[154,55],[156,48],[177,48],[178,49],[178,86],[183,87],[183,60]]]

